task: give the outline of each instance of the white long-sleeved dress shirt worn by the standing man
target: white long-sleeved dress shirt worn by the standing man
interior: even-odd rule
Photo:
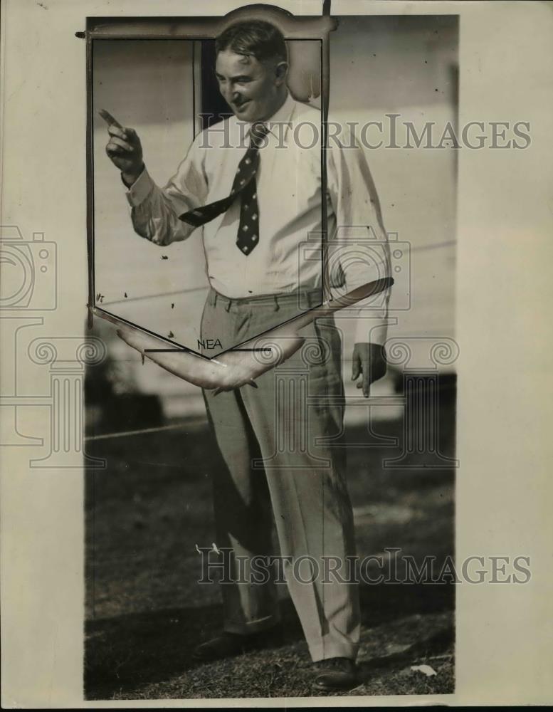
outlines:
[[[322,285],[321,114],[288,94],[267,122],[256,173],[258,243],[236,246],[240,201],[194,228],[179,215],[230,194],[249,145],[250,124],[229,117],[200,132],[177,173],[159,188],[144,168],[127,191],[132,224],[159,245],[203,231],[211,286],[229,298],[312,290]],[[357,286],[390,276],[389,248],[364,152],[344,130],[327,150],[330,286]],[[340,145],[341,144],[341,145]],[[344,292],[344,289],[341,290]],[[356,342],[386,340],[389,290],[355,305]]]

